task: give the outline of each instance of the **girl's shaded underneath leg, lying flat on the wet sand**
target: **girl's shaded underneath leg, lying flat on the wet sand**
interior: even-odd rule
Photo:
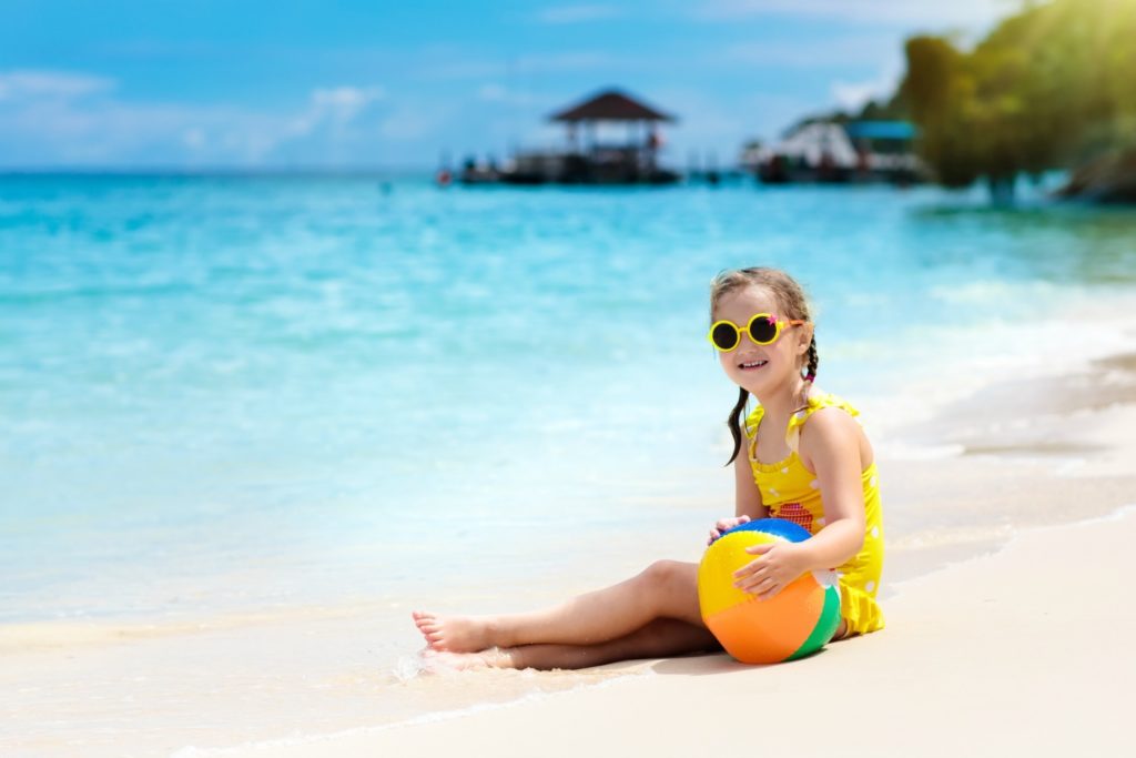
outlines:
[[[721,650],[702,626],[675,618],[657,618],[630,634],[598,644],[525,644],[507,650],[437,652],[434,660],[456,668],[588,668],[617,660],[669,658]]]

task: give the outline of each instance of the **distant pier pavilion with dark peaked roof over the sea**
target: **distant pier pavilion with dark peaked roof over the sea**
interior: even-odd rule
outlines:
[[[675,123],[674,116],[618,90],[600,92],[583,102],[553,114],[549,120],[567,124],[562,150],[517,152],[496,166],[470,158],[461,170],[463,184],[671,184],[682,178],[658,163],[663,139],[659,125]],[[627,125],[623,143],[601,143],[598,125]]]

